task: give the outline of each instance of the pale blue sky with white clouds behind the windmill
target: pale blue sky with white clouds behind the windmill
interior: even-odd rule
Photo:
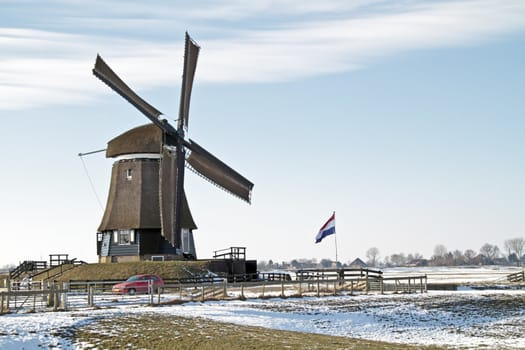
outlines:
[[[255,184],[248,205],[188,173],[200,258],[430,257],[525,236],[521,0],[0,8],[0,266],[97,261],[112,160],[78,153],[147,119],[95,57],[173,122],[185,31],[201,46],[188,136]]]

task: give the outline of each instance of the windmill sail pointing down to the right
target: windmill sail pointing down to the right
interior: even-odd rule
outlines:
[[[187,162],[191,169],[217,186],[250,203],[253,183],[199,146],[195,141],[190,140],[188,148],[191,153]]]

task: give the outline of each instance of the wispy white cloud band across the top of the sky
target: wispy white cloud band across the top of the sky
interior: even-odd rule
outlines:
[[[185,8],[185,16],[202,20],[194,32],[203,47],[199,81],[274,82],[347,72],[399,52],[470,45],[525,28],[525,3],[520,0],[406,1],[396,6],[382,1],[344,3],[229,1],[220,6],[209,3],[207,11],[206,3]],[[158,23],[165,28],[166,16],[176,9],[168,4],[161,7],[162,14],[158,8],[144,9],[145,17],[140,18],[144,5],[137,6],[128,9],[133,18],[121,13],[113,31],[108,27],[104,33],[0,28],[0,109],[96,98],[105,92],[91,76],[97,52],[139,90],[178,83],[181,41],[160,34],[160,40],[154,41],[154,31],[140,40],[121,32],[130,24],[154,28]],[[104,18],[86,11],[87,17],[79,18],[80,26],[110,23],[108,14],[116,16],[115,9],[108,8]],[[239,22],[253,21],[258,14],[276,17],[271,24],[258,26]],[[205,24],[212,16],[221,21]],[[71,16],[66,17],[65,22],[73,26]]]

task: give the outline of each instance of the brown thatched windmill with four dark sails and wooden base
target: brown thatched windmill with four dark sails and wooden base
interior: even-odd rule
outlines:
[[[184,193],[185,167],[250,202],[250,181],[184,137],[198,53],[199,46],[186,33],[177,128],[97,56],[93,74],[152,122],[128,130],[108,143],[106,157],[115,162],[97,234],[101,262],[196,257],[193,230],[197,226]]]

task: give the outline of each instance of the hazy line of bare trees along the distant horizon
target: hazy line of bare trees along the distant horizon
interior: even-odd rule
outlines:
[[[352,261],[341,263],[330,259],[293,259],[291,261],[258,261],[259,271],[300,270],[314,268],[349,267]],[[381,259],[379,248],[366,251],[366,264],[369,267],[397,266],[466,266],[466,265],[525,265],[525,238],[511,238],[504,242],[503,250],[497,245],[485,243],[478,251],[458,249],[449,251],[443,244],[434,247],[434,254],[424,258],[419,253],[395,253]]]

